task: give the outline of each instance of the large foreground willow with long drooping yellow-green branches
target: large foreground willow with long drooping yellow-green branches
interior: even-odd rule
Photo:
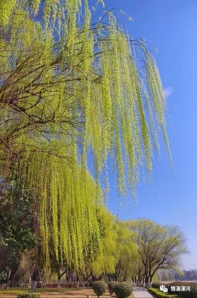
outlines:
[[[95,206],[102,173],[108,193],[109,156],[123,195],[127,183],[134,195],[144,162],[151,172],[159,127],[171,160],[165,106],[146,43],[112,11],[92,15],[88,0],[0,1],[1,175],[28,185],[48,264],[51,241],[75,267],[102,249]]]

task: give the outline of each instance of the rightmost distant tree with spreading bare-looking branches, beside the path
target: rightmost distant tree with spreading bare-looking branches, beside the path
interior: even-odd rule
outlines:
[[[135,241],[144,265],[146,284],[152,282],[159,269],[180,271],[180,257],[187,253],[187,247],[178,226],[161,226],[145,219],[133,220],[128,224],[136,232]]]

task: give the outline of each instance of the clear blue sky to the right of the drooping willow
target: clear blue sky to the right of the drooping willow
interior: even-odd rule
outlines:
[[[116,6],[133,18],[127,23],[133,38],[145,38],[157,47],[159,52],[154,52],[154,56],[169,94],[167,130],[175,178],[162,145],[160,165],[154,165],[154,183],[141,179],[137,188],[138,207],[130,198],[129,217],[179,225],[191,251],[183,257],[183,268],[197,269],[197,2],[105,0],[105,3],[107,8]],[[112,177],[110,184],[109,209],[117,214]],[[120,218],[127,219],[124,203]]]

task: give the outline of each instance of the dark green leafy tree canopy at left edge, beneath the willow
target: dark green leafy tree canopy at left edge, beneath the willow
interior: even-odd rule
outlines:
[[[6,187],[4,186],[1,182],[0,273],[7,262],[12,262],[15,266],[15,259],[20,260],[22,254],[35,247],[37,242],[32,225],[33,202],[28,195],[28,189],[21,189],[20,185],[13,184],[13,181],[7,181]]]

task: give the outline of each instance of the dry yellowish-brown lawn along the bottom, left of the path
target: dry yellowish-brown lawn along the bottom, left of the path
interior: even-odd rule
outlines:
[[[30,289],[9,289],[9,290],[0,290],[0,298],[16,298],[18,294],[22,293],[32,293]],[[97,296],[94,294],[92,289],[37,289],[36,293],[40,294],[41,298],[86,298],[87,295],[90,295],[91,298],[96,298]],[[101,296],[101,298],[110,298],[116,297],[116,295],[110,296],[107,291],[105,295]],[[130,298],[133,298],[133,293]]]

